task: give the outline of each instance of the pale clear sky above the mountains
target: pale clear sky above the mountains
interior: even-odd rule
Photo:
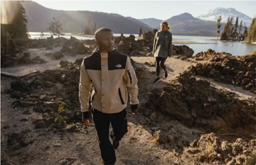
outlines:
[[[256,16],[254,1],[34,1],[46,8],[56,10],[87,10],[117,13],[136,19],[156,18],[166,20],[184,12],[197,17],[215,8],[234,8],[253,18]]]

